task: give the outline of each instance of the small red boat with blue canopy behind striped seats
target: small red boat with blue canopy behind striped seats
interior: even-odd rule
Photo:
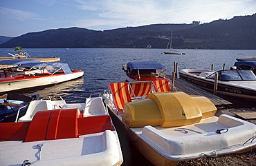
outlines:
[[[136,61],[122,65],[127,81],[168,80],[165,67],[156,61]],[[170,75],[170,74],[169,74]]]

